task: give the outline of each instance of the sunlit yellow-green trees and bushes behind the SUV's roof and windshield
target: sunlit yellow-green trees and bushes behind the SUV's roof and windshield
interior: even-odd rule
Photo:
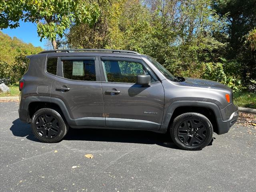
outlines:
[[[177,76],[204,77],[231,86],[236,81],[218,63],[227,44],[215,34],[224,30],[226,18],[210,8],[210,0],[98,0],[98,4],[99,21],[92,28],[74,24],[66,36],[69,47],[134,50],[152,56]],[[223,65],[224,80],[203,70],[212,62]]]

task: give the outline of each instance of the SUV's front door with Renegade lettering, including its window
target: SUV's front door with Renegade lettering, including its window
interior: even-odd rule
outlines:
[[[107,127],[158,130],[164,108],[164,88],[139,59],[104,58],[102,94]],[[136,84],[137,75],[151,76],[150,86]]]

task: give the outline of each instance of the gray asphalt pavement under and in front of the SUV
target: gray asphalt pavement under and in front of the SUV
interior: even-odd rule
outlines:
[[[70,129],[41,143],[18,119],[18,102],[1,102],[0,118],[1,192],[256,191],[255,126],[235,124],[185,151],[147,131]]]

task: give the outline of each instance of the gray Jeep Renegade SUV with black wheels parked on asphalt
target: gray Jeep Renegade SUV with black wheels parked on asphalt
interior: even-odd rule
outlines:
[[[27,58],[19,116],[42,142],[60,141],[68,127],[150,130],[199,150],[238,118],[227,86],[173,76],[137,52],[49,50]]]

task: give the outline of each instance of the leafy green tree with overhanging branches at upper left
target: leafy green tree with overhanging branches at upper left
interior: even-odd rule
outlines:
[[[16,28],[19,21],[35,22],[38,36],[47,38],[57,49],[56,37],[73,22],[92,26],[100,16],[98,4],[87,0],[2,0],[0,28]]]

